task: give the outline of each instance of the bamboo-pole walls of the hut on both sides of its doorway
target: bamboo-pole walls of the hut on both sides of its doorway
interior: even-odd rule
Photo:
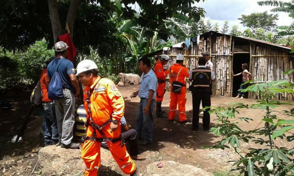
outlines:
[[[213,72],[216,74],[216,83],[213,85],[213,94],[232,97],[233,95],[233,53],[234,53],[234,38],[232,36],[223,35],[220,37],[211,36],[209,38],[200,38],[199,45],[191,46],[186,50],[186,45],[183,43],[183,48],[172,48],[170,53],[171,61],[165,66],[168,69],[176,63],[176,55],[185,55],[184,64],[189,70],[192,70],[198,65],[198,58],[202,57],[201,53],[205,51],[211,53],[211,62],[213,62]],[[250,41],[250,67],[249,72],[253,75],[253,80],[258,82],[272,80],[288,80],[294,82],[293,74],[290,76],[283,75],[283,72],[293,69],[293,61],[289,53],[268,47],[255,46],[255,42]],[[187,78],[186,88],[188,93],[189,80]],[[169,76],[167,77],[166,90],[170,91]],[[248,94],[248,98],[259,99],[253,93]],[[293,94],[283,93],[277,96],[280,100],[293,100]]]

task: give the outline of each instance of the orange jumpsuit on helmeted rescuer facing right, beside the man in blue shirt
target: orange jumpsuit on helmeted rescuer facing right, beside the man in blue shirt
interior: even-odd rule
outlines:
[[[163,70],[163,65],[158,60],[153,67],[153,71],[157,79],[159,80],[157,90],[156,90],[156,101],[163,101],[163,95],[165,93],[165,82],[164,83],[159,83],[159,82],[161,82],[161,80],[165,81],[166,76],[169,74],[169,70]]]

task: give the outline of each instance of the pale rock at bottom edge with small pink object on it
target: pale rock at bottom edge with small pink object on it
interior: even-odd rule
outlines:
[[[144,172],[144,176],[213,176],[210,172],[175,161],[162,161],[163,167],[159,168],[157,163],[149,164]]]

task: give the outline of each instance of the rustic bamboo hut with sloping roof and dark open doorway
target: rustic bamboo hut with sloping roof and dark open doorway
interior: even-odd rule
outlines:
[[[243,63],[248,64],[248,71],[252,73],[252,79],[255,82],[272,80],[294,82],[293,74],[283,74],[285,71],[293,69],[294,56],[290,54],[291,48],[263,40],[209,31],[193,38],[193,40],[190,39],[190,45],[187,39],[185,42],[173,45],[171,50],[165,53],[171,57],[171,61],[166,67],[175,63],[177,54],[183,54],[186,66],[190,70],[196,68],[198,58],[202,57],[201,53],[208,50],[211,53],[213,71],[216,73],[216,86],[213,92],[216,95],[235,97],[242,82],[242,77],[233,77],[233,74],[242,72]],[[157,52],[158,55],[162,53],[162,50]],[[146,56],[152,57],[153,55],[150,53]],[[186,84],[189,87],[188,79]],[[168,78],[166,88],[169,91]],[[248,98],[259,99],[260,97],[249,93]],[[293,100],[293,95],[283,93],[279,94],[277,99]]]

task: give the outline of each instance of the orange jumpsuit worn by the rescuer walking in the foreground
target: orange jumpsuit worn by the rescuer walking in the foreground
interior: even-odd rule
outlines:
[[[89,102],[85,100],[88,93],[94,89],[90,97],[92,121],[94,121],[95,124],[102,126],[102,124],[109,120],[110,117],[118,120],[118,128],[116,131],[112,133],[110,132],[110,123],[101,130],[106,138],[118,138],[121,134],[120,119],[124,112],[124,100],[111,80],[105,78],[99,79],[100,77],[97,78],[91,87],[87,86],[84,90],[84,105],[87,112],[87,118],[90,118],[90,113],[88,113]],[[92,126],[87,127],[86,136],[93,137],[94,130],[96,130],[97,138],[103,138],[100,132]],[[107,145],[112,157],[121,170],[125,174],[133,174],[136,170],[136,166],[127,153],[126,146],[121,144],[121,141],[115,143],[107,141]],[[97,141],[86,140],[82,144],[81,157],[86,164],[85,176],[97,176],[100,167],[100,147],[101,142]]]

